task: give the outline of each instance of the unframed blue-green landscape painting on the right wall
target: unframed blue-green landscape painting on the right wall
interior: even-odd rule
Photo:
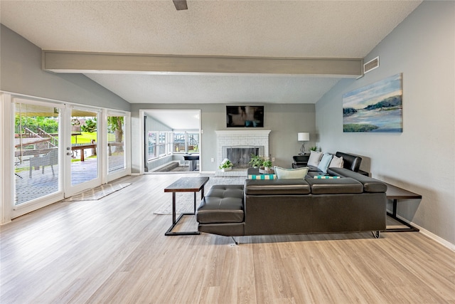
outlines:
[[[343,132],[402,131],[402,73],[343,95]]]

